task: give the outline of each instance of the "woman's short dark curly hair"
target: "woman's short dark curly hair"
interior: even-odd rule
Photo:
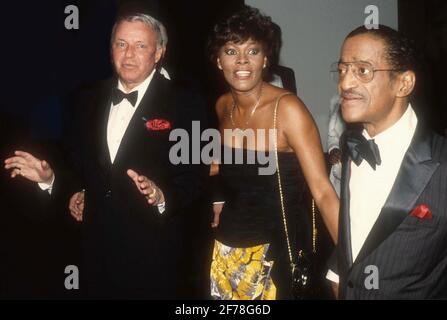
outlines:
[[[208,40],[211,62],[216,63],[219,50],[227,43],[244,43],[253,39],[261,43],[268,64],[274,60],[275,29],[272,19],[258,9],[244,6],[243,9],[216,24]]]

